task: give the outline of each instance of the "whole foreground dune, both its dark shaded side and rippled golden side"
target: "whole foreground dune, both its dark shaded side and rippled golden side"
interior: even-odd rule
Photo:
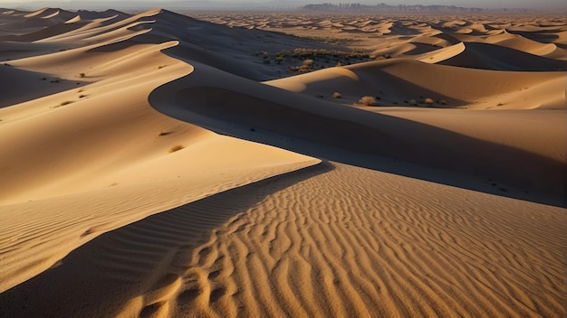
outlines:
[[[564,210],[334,165],[104,234],[0,300],[59,316],[564,313],[564,246],[548,243]]]

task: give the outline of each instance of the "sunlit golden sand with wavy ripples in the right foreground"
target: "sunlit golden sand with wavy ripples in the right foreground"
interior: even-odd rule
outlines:
[[[193,250],[168,314],[565,315],[564,210],[399,181],[337,165],[267,196]]]

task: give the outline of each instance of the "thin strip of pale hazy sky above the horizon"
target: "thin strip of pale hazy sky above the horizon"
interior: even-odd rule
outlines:
[[[166,2],[171,2],[172,0],[144,0],[141,1],[145,4],[152,3],[159,6],[159,4],[163,4]],[[173,0],[176,1],[176,0]],[[191,0],[188,0],[189,2]],[[256,2],[256,3],[264,3],[270,2],[274,0],[208,0],[211,2],[225,2],[225,3],[237,3],[237,2]],[[296,0],[287,0],[296,2]],[[285,3],[286,0],[279,0],[279,2]],[[68,0],[58,1],[58,0],[0,0],[0,5],[3,4],[29,4],[29,3],[42,3],[45,6],[50,6],[49,3],[57,3],[61,4],[64,2],[70,2]],[[77,4],[80,3],[81,0],[73,0],[72,3]],[[137,0],[120,0],[120,2],[128,2],[129,4],[134,5]],[[533,7],[557,7],[557,8],[567,8],[567,0],[475,0],[475,1],[465,1],[465,0],[394,0],[394,1],[387,1],[387,0],[303,0],[299,1],[302,3],[313,3],[313,4],[320,4],[320,3],[361,3],[361,4],[369,4],[374,5],[380,2],[383,2],[388,5],[457,5],[457,6],[465,6],[465,7],[508,7],[508,8],[533,8]]]

